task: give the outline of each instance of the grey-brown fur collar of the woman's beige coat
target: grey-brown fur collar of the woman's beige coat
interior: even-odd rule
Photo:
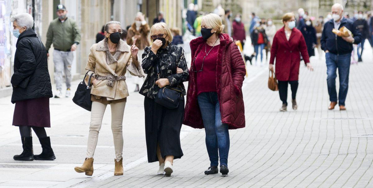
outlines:
[[[117,49],[114,55],[112,55],[109,51],[109,45],[107,44],[107,38],[104,40],[101,40],[97,43],[96,51],[106,52],[106,63],[108,65],[113,64],[117,62],[119,59],[119,56],[124,52],[129,52],[128,45],[123,41],[119,40],[119,43],[117,44]]]

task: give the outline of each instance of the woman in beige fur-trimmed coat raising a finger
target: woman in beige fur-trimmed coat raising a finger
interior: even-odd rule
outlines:
[[[132,46],[120,40],[121,28],[120,22],[107,22],[105,39],[93,44],[85,67],[89,76],[93,74],[91,80],[91,124],[85,161],[81,167],[75,167],[75,171],[85,172],[85,175],[88,176],[93,174],[93,154],[107,105],[110,105],[112,112],[111,127],[115,148],[114,175],[123,175],[122,121],[126,97],[129,95],[125,74],[128,70],[134,76],[144,77],[144,71],[137,59],[136,40]],[[86,78],[87,83],[88,76]]]

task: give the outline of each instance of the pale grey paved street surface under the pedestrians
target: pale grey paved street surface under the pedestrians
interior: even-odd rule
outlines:
[[[311,59],[314,72],[301,66],[298,110],[288,108],[288,112],[278,111],[278,92],[267,88],[267,64],[248,65],[243,87],[247,127],[229,132],[228,176],[203,174],[210,164],[204,130],[186,126],[181,133],[184,156],[175,160],[172,176],[156,175],[158,164],[147,163],[145,157],[143,97],[135,93],[125,110],[123,176],[113,176],[110,108],[95,152],[94,176],[73,170],[85,157],[90,113],[71,99],[51,99],[52,128],[47,133],[57,159],[13,161],[12,156],[22,148],[18,130],[10,126],[14,106],[10,98],[2,98],[0,186],[373,187],[373,61],[369,52],[372,49],[367,47],[363,63],[351,65],[347,111],[327,110],[325,60]],[[34,151],[41,151],[36,137]]]

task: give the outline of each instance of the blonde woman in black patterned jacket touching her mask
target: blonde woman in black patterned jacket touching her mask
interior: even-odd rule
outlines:
[[[167,24],[160,22],[150,29],[154,41],[142,54],[142,68],[147,75],[140,94],[144,95],[145,137],[148,162],[159,161],[159,175],[170,176],[173,160],[181,158],[180,130],[184,114],[183,82],[188,79],[184,50],[171,44],[172,33]],[[156,101],[165,89],[177,90],[179,104],[166,107]],[[171,99],[173,100],[173,99]],[[176,99],[177,100],[177,99]]]

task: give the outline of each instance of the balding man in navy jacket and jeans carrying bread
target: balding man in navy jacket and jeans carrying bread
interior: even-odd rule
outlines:
[[[339,104],[339,110],[346,110],[345,100],[348,90],[348,75],[350,74],[350,62],[352,44],[361,42],[361,35],[354,27],[351,20],[344,18],[343,6],[336,3],[332,6],[333,19],[326,22],[321,37],[321,49],[325,51],[327,67],[327,89],[329,92],[330,105],[329,110],[333,110],[335,105]],[[339,37],[332,33],[332,30],[346,27],[352,32],[348,37]],[[336,70],[339,75],[339,98],[335,87]],[[339,102],[338,102],[339,101]]]

